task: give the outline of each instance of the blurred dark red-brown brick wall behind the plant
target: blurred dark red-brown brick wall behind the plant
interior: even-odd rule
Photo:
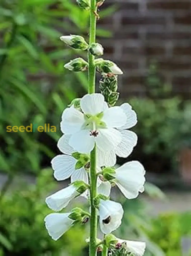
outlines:
[[[113,31],[113,39],[101,39],[104,58],[125,72],[119,85],[122,97],[145,95],[148,64],[159,63],[173,94],[191,95],[191,0],[106,0],[117,5],[111,18],[98,22]]]

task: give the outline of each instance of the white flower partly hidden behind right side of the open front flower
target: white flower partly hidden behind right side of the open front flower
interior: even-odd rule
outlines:
[[[108,108],[108,106],[106,106]],[[137,144],[137,135],[136,133],[126,130],[136,125],[137,115],[132,106],[128,103],[123,103],[120,106],[120,109],[126,115],[126,123],[120,127],[117,127],[117,130],[120,132],[122,140],[121,142],[111,151],[103,152],[97,149],[98,165],[99,166],[114,166],[116,164],[116,155],[119,157],[128,157],[133,148]]]

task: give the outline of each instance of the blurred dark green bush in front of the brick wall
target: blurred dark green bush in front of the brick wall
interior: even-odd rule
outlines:
[[[162,83],[154,64],[150,65],[146,87],[146,98],[129,100],[138,116],[133,130],[141,147],[136,154],[153,161],[147,168],[150,171],[176,170],[179,153],[191,147],[191,102],[172,96],[171,86]]]

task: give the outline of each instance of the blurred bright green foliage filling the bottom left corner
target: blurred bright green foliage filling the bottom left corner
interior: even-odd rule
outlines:
[[[36,185],[20,184],[0,201],[0,255],[1,256],[78,256],[86,246],[84,226],[76,225],[61,239],[54,241],[44,226],[44,217],[50,210],[44,198],[57,183],[52,170],[44,169]],[[80,238],[80,239],[79,239]]]

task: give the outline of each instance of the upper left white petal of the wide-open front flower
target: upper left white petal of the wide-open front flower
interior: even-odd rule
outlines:
[[[80,131],[84,124],[84,115],[73,106],[67,108],[62,113],[60,129],[62,133],[72,134]]]

